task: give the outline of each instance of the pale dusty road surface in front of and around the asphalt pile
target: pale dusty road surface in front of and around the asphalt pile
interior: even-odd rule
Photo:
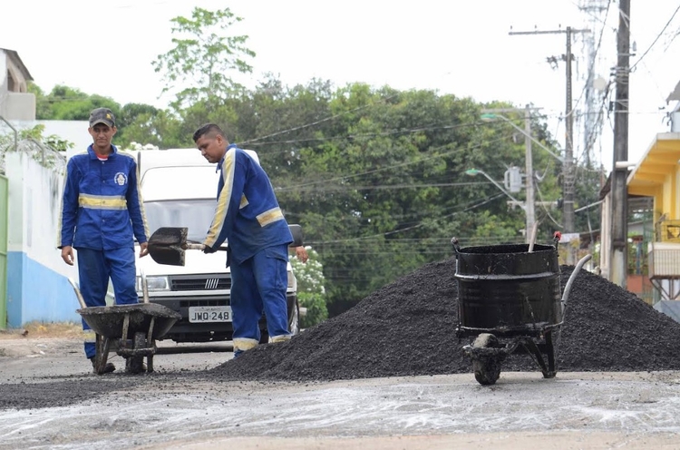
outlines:
[[[675,371],[220,382],[206,370],[232,357],[228,344],[163,341],[153,374],[98,377],[79,338],[42,332],[0,334],[0,449],[680,446]]]

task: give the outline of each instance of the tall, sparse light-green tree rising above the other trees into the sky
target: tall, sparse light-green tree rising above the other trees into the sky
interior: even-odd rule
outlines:
[[[166,82],[162,93],[179,89],[172,103],[180,111],[199,100],[227,98],[241,93],[243,86],[229,73],[251,73],[246,58],[254,57],[248,49],[247,35],[227,35],[232,25],[242,21],[229,8],[209,11],[194,7],[191,17],[170,20],[173,37],[172,48],[159,54],[152,63],[157,73],[163,73]]]

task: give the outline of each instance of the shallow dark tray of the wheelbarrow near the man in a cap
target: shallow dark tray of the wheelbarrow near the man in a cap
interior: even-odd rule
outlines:
[[[151,338],[158,339],[181,318],[179,313],[156,303],[89,307],[77,309],[76,312],[95,333],[110,339],[131,339],[137,332],[148,333],[151,318],[154,318]],[[123,337],[122,328],[126,316],[130,317],[128,336]]]

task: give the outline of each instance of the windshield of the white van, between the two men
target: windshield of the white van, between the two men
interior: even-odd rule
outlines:
[[[186,227],[187,240],[202,242],[215,215],[215,199],[145,201],[144,211],[151,234],[160,227]]]

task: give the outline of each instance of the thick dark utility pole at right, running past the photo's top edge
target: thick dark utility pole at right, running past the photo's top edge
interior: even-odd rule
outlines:
[[[630,0],[618,2],[617,93],[614,102],[614,163],[611,179],[611,269],[609,280],[627,288],[628,267],[628,87],[630,75]]]

